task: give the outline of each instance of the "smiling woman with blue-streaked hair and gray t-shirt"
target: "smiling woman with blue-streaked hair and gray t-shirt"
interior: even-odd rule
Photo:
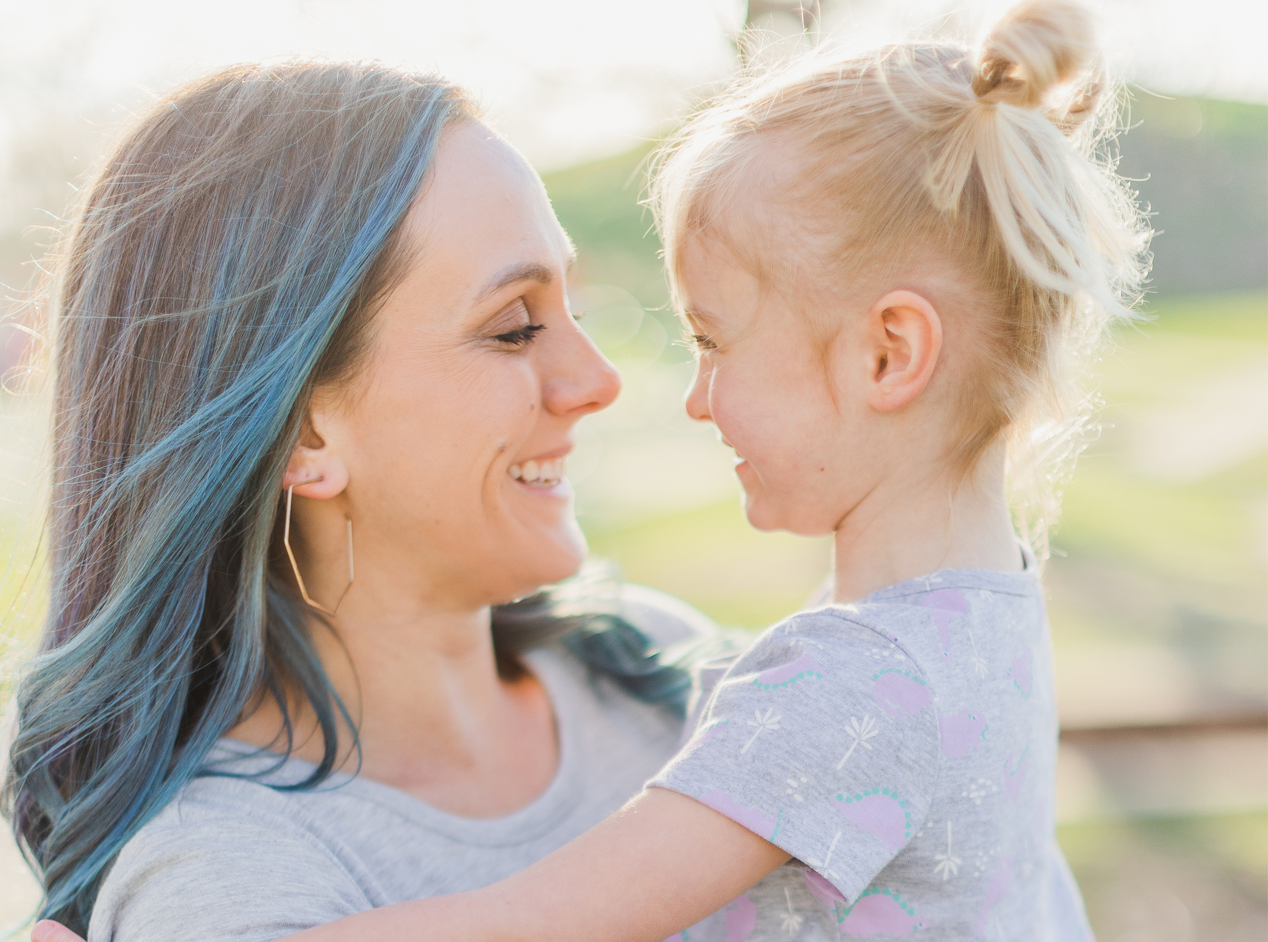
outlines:
[[[434,77],[243,66],[123,139],[63,254],[6,785],[43,915],[266,939],[481,886],[671,754],[685,676],[621,616],[699,619],[533,597],[582,563],[563,461],[619,389],[571,259]]]

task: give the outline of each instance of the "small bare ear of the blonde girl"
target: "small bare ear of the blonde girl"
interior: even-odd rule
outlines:
[[[895,412],[919,396],[942,350],[942,318],[914,292],[890,292],[866,314],[867,404]]]

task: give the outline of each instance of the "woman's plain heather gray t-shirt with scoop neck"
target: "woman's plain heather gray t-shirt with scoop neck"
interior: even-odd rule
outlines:
[[[666,645],[709,630],[694,609],[625,587],[620,614]],[[597,676],[560,647],[526,655],[555,711],[559,768],[505,818],[460,818],[368,778],[316,790],[203,777],[119,853],[98,895],[89,942],[264,942],[374,907],[486,886],[540,860],[638,794],[673,754],[682,721]],[[236,772],[275,756],[221,740]],[[264,781],[313,770],[285,761]]]

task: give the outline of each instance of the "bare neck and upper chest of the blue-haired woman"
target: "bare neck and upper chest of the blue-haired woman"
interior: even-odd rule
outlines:
[[[358,723],[360,775],[473,818],[508,814],[549,785],[558,765],[554,716],[535,677],[497,673],[489,612],[383,617],[353,610],[312,625],[335,692]],[[323,743],[312,707],[292,696],[295,748],[309,762]],[[342,768],[351,732],[340,720]],[[281,711],[271,697],[230,732],[276,749]]]

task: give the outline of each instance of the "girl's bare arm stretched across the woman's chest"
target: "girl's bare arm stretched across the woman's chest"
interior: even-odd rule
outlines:
[[[372,909],[287,938],[661,942],[787,860],[775,844],[699,801],[648,789],[501,882]]]

